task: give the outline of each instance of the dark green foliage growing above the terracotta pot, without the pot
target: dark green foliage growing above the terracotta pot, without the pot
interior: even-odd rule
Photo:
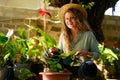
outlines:
[[[75,53],[74,51],[71,51],[68,54],[55,52],[54,55],[46,58],[46,63],[47,63],[46,65],[49,66],[50,70],[54,72],[64,72],[67,70],[64,64],[73,66],[78,62],[78,59],[76,59],[73,56],[74,53]],[[68,61],[68,58],[69,58],[69,61]]]

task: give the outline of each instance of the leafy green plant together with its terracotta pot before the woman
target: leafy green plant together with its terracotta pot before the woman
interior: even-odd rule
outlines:
[[[69,80],[71,73],[63,66],[63,57],[59,53],[45,58],[44,72],[40,72],[43,80]]]

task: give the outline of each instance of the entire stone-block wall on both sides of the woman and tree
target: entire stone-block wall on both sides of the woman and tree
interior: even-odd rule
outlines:
[[[8,28],[17,30],[17,28],[25,28],[29,31],[28,27],[24,23],[31,24],[40,28],[44,28],[43,20],[40,19],[11,19],[0,21],[0,32],[7,33]],[[58,41],[61,24],[55,23],[55,21],[46,22],[46,32]],[[105,40],[109,42],[114,42],[120,40],[120,17],[118,16],[105,16],[102,23],[102,30],[105,36]],[[17,33],[17,32],[16,32]],[[36,35],[36,32],[29,31],[30,36]]]

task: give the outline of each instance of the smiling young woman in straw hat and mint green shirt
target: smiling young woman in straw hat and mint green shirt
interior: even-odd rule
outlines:
[[[98,42],[86,19],[87,12],[79,4],[66,4],[60,8],[59,16],[63,24],[58,48],[65,54],[74,51],[79,61],[74,66],[65,65],[73,73],[73,77],[93,80],[97,67],[92,62],[100,56]],[[53,51],[54,48],[51,48]]]

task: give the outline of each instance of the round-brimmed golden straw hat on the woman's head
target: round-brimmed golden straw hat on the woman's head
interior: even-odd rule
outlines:
[[[69,3],[69,4],[65,4],[64,6],[62,6],[59,10],[59,18],[61,21],[63,21],[65,12],[70,8],[78,9],[87,19],[87,11],[80,4]]]

